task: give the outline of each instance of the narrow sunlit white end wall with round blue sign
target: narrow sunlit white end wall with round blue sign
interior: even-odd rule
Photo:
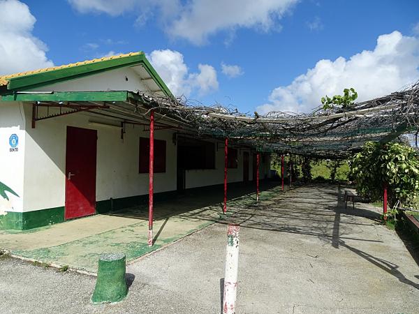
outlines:
[[[24,127],[22,106],[18,103],[0,103],[0,182],[19,195],[17,197],[5,192],[8,200],[0,196],[0,215],[5,211],[21,212],[23,209]],[[16,135],[17,144],[14,142],[10,144],[12,135]],[[13,138],[16,137],[13,136]]]

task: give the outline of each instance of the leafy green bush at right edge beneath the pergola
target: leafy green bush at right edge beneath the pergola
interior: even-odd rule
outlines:
[[[400,143],[367,142],[353,157],[351,174],[358,194],[373,202],[382,200],[388,188],[388,204],[397,200],[409,206],[419,192],[419,160],[416,151]]]

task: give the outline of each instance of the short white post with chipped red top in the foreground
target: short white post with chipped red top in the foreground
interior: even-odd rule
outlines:
[[[224,275],[223,314],[235,313],[239,264],[240,225],[229,224],[227,231],[226,273]]]

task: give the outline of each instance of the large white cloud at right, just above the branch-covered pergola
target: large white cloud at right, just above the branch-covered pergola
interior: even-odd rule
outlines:
[[[355,88],[357,101],[362,101],[390,94],[418,79],[419,38],[393,31],[378,36],[373,51],[364,50],[348,60],[318,61],[291,84],[274,89],[269,102],[257,110],[311,112],[321,104],[321,97],[342,94],[346,87]]]

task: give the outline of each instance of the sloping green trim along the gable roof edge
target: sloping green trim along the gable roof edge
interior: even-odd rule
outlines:
[[[113,59],[98,60],[89,63],[80,63],[74,66],[64,66],[54,70],[45,72],[31,73],[29,75],[21,75],[10,77],[6,91],[3,94],[10,94],[10,91],[29,91],[45,85],[56,84],[67,80],[74,80],[88,75],[102,73],[108,70],[115,70],[126,66],[135,66],[141,64],[147,73],[153,78],[154,82],[168,97],[174,97],[166,84],[163,82],[159,74],[154,70],[152,65],[145,57],[144,52],[133,54],[126,57],[115,57]]]

